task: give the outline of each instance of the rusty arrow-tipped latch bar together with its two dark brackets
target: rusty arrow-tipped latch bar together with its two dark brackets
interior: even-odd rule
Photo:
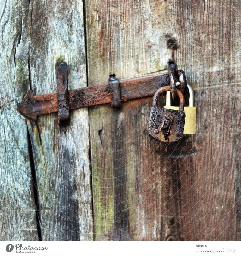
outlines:
[[[184,72],[182,71],[181,74]],[[158,88],[170,85],[170,78],[167,73],[121,81],[118,81],[116,77],[110,77],[108,83],[68,91],[67,75],[67,64],[64,62],[57,63],[57,93],[34,96],[33,91],[28,90],[20,103],[19,112],[24,117],[34,121],[37,121],[38,115],[58,112],[60,119],[66,120],[70,109],[109,103],[113,107],[119,107],[123,100],[153,96]]]

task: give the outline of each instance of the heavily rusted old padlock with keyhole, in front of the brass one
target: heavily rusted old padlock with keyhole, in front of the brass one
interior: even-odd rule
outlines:
[[[152,107],[149,109],[147,132],[155,140],[161,142],[179,141],[183,136],[185,113],[183,112],[185,99],[180,90],[177,94],[180,99],[179,110],[157,107],[160,93],[170,91],[170,86],[159,88],[153,97]]]

